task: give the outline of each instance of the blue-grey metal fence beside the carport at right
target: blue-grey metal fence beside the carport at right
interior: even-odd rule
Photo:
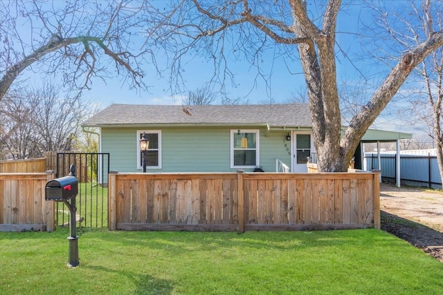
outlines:
[[[402,151],[403,152],[403,151]],[[381,170],[381,179],[395,182],[397,177],[395,170],[395,153],[381,153],[381,167],[377,153],[365,153],[364,169]],[[400,181],[401,184],[414,187],[430,187],[442,189],[442,177],[438,170],[437,157],[435,155],[405,155],[400,154]]]

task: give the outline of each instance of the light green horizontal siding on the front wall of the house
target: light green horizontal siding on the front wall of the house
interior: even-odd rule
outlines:
[[[141,172],[136,169],[136,132],[161,130],[162,169],[148,172],[234,172],[230,169],[231,129],[237,127],[102,128],[102,152],[110,153],[111,170]],[[260,166],[264,171],[275,172],[275,158],[291,165],[291,142],[286,135],[287,132],[271,131],[266,137],[266,129],[260,129]]]

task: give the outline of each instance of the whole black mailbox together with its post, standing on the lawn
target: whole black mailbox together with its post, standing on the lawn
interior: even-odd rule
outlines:
[[[78,236],[77,227],[75,225],[75,215],[77,207],[75,207],[75,197],[78,195],[78,180],[75,178],[75,166],[69,168],[69,175],[62,178],[55,178],[46,183],[46,200],[54,200],[56,202],[64,202],[69,209],[71,220],[69,222],[69,267],[77,267],[80,265],[78,258]],[[69,202],[71,200],[71,202]]]

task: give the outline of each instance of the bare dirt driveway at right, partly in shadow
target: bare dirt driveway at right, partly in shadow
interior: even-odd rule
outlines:
[[[443,192],[380,185],[381,229],[443,263]]]

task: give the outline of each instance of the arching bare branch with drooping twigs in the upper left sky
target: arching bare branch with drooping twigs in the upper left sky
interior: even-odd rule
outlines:
[[[143,1],[0,1],[0,99],[28,68],[58,74],[71,89],[94,77],[118,75],[130,87],[143,84],[143,57],[134,38],[148,20]],[[114,66],[114,69],[111,68]]]

